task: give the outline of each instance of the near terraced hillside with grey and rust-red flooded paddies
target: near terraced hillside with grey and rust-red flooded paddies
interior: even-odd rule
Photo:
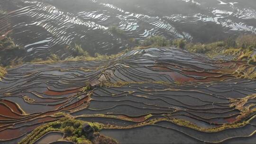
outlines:
[[[63,125],[89,123],[94,135],[118,143],[253,144],[256,80],[241,73],[256,67],[156,47],[98,61],[23,64],[0,81],[0,143],[80,143]]]

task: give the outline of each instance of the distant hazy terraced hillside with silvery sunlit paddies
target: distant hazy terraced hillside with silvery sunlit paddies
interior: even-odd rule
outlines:
[[[116,54],[148,36],[211,42],[255,34],[255,6],[255,0],[1,0],[0,34],[23,48],[26,62],[72,56],[65,47],[74,44],[91,55]]]

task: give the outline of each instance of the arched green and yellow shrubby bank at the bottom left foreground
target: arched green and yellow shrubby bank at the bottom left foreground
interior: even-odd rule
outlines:
[[[87,124],[93,130],[90,133],[83,130],[84,125]],[[103,127],[104,125],[100,123],[84,122],[64,117],[59,121],[37,127],[31,134],[22,139],[19,144],[33,144],[40,137],[52,131],[63,132],[63,140],[72,141],[76,144],[117,144],[115,140],[98,133]]]

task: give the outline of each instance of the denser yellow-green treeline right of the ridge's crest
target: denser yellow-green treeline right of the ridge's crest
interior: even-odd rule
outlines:
[[[256,49],[256,35],[243,35],[236,38],[229,37],[223,41],[209,44],[192,43],[185,39],[168,40],[164,36],[151,36],[140,41],[137,48],[146,48],[149,46],[174,46],[186,49],[192,53],[207,54],[208,56],[240,53],[241,56],[237,60],[247,60],[248,64],[256,64],[256,55],[253,55],[254,49]]]

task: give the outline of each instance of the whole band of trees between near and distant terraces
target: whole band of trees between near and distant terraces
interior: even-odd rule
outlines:
[[[110,31],[119,33],[122,32],[116,28],[111,27]],[[135,40],[129,40],[135,43]],[[256,64],[256,56],[252,55],[254,53],[254,48],[256,48],[256,35],[243,35],[236,38],[229,37],[223,41],[213,42],[209,44],[202,43],[192,43],[185,39],[174,39],[168,40],[164,36],[151,36],[145,40],[136,41],[136,46],[130,47],[129,49],[143,49],[151,46],[157,47],[179,47],[181,49],[186,49],[192,53],[201,53],[208,56],[214,56],[218,54],[240,54],[236,60],[247,60],[248,64]],[[31,63],[56,63],[64,61],[91,61],[91,60],[101,60],[110,59],[119,56],[122,53],[128,51],[128,49],[119,54],[113,55],[102,55],[95,53],[90,55],[85,51],[81,45],[72,44],[64,47],[65,53],[71,56],[67,58],[60,58],[56,54],[48,54],[44,59],[36,58],[26,62]],[[219,51],[221,50],[221,51]],[[0,65],[6,66],[16,66],[25,63],[20,58],[25,55],[26,51],[15,45],[13,40],[9,37],[0,41]],[[8,61],[6,61],[8,60]],[[2,72],[3,73],[3,72]]]

